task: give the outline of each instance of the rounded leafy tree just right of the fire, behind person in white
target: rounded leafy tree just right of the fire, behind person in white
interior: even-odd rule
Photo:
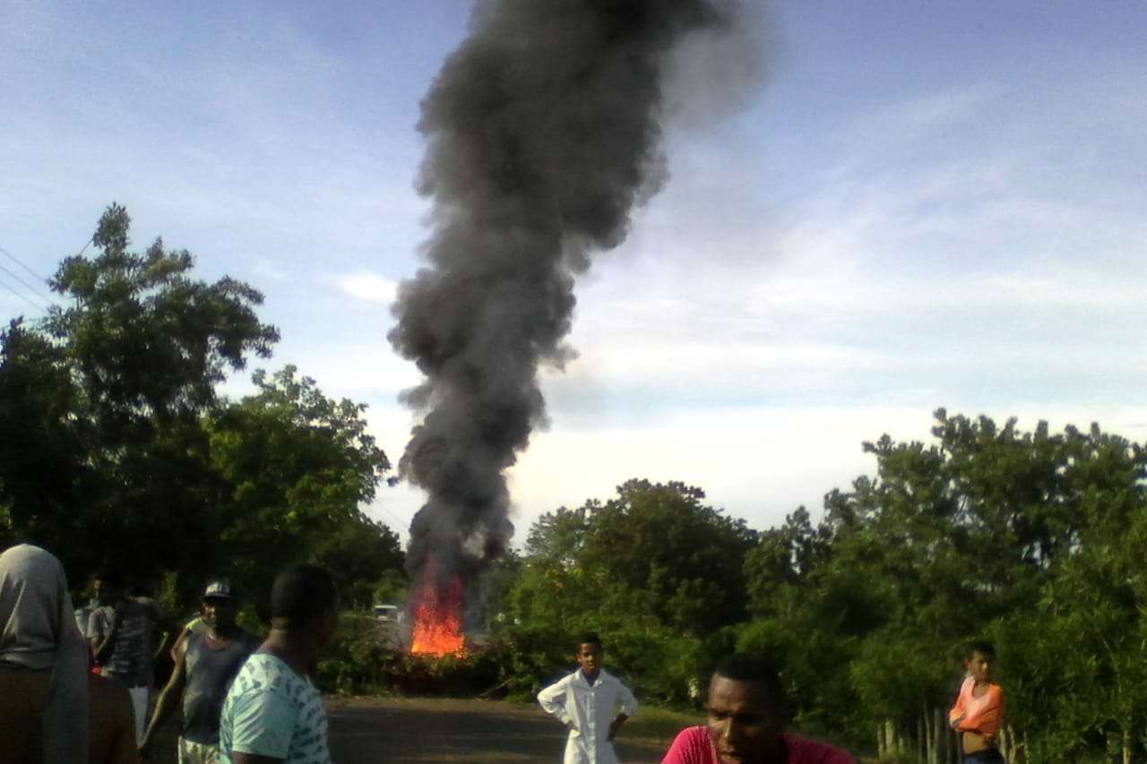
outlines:
[[[754,541],[697,488],[629,481],[608,501],[535,523],[507,598],[512,631],[545,670],[569,662],[577,632],[596,629],[645,693],[684,699],[697,688],[707,640],[744,616]]]

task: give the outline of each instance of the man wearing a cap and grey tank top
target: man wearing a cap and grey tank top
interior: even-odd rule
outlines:
[[[148,747],[156,730],[184,699],[182,734],[179,736],[179,764],[217,764],[219,762],[219,711],[231,683],[259,640],[235,623],[237,610],[231,585],[212,580],[203,592],[203,623],[206,627],[186,634],[177,645],[175,668],[167,686],[159,694],[155,715],[148,725],[140,754]]]

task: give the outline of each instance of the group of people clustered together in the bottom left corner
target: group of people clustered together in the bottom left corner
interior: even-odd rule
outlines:
[[[174,669],[150,722],[153,658],[171,632],[162,631],[155,603],[125,593],[114,571],[100,574],[93,590],[94,601],[73,609],[54,555],[28,544],[0,554],[5,764],[140,764],[177,704],[180,764],[330,761],[326,711],[311,680],[338,623],[325,570],[279,574],[263,640],[235,623],[227,582],[208,584],[201,616],[170,648]]]

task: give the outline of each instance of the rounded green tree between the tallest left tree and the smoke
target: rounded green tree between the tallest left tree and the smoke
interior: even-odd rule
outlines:
[[[252,379],[258,392],[205,426],[227,485],[219,539],[228,568],[264,590],[279,567],[314,558],[344,586],[360,576],[376,583],[401,553],[397,536],[359,509],[390,468],[367,432],[366,406],[326,397],[294,366]]]

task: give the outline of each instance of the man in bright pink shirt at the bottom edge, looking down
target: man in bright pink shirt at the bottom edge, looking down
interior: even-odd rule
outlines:
[[[788,701],[768,661],[734,654],[709,681],[708,722],[682,730],[662,764],[856,764],[851,754],[786,732]]]

